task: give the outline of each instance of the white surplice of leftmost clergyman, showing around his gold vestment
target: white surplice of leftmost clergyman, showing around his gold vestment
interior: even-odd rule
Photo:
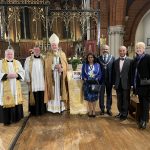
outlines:
[[[17,74],[21,76],[21,81],[24,80],[25,72],[22,68],[22,65],[19,61],[17,61],[17,65],[19,66],[19,70]],[[12,62],[8,62],[8,70],[9,73],[14,73],[14,67]],[[3,106],[3,82],[1,81],[5,73],[2,73],[2,60],[0,60],[0,106]],[[11,88],[11,93],[15,97],[15,104],[18,105],[17,101],[17,87],[16,87],[16,79],[10,79],[10,88]]]

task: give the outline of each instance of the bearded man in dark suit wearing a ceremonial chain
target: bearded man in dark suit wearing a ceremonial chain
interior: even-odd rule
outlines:
[[[109,46],[104,45],[102,47],[102,55],[98,57],[98,63],[102,69],[102,79],[101,79],[101,90],[99,95],[99,106],[100,106],[100,115],[104,115],[105,113],[105,105],[104,105],[104,95],[105,89],[107,94],[106,100],[106,109],[107,114],[112,116],[111,105],[112,105],[112,75],[113,75],[113,63],[115,58],[109,54]]]

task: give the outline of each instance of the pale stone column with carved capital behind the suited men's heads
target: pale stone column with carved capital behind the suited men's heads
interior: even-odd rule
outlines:
[[[108,34],[110,52],[113,56],[118,57],[118,49],[123,45],[124,27],[122,25],[110,26]]]

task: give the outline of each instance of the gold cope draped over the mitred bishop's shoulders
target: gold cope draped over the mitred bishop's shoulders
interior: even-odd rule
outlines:
[[[66,55],[62,50],[58,51],[57,54],[60,58],[60,63],[62,65],[63,72],[61,73],[61,83],[60,83],[60,93],[61,93],[61,100],[67,101],[68,100],[68,92],[66,89],[67,85],[67,68],[68,63],[66,59]],[[54,99],[54,79],[53,79],[53,70],[52,70],[52,64],[53,64],[53,57],[56,55],[52,52],[47,53],[45,57],[45,94],[44,94],[44,101],[47,103],[49,100]]]

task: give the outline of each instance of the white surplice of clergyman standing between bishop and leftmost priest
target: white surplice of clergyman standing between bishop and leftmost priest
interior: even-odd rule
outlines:
[[[25,81],[31,82],[32,92],[44,91],[44,70],[41,59],[35,58],[32,63],[32,73],[30,79],[30,69],[29,69],[30,58],[25,61]]]

